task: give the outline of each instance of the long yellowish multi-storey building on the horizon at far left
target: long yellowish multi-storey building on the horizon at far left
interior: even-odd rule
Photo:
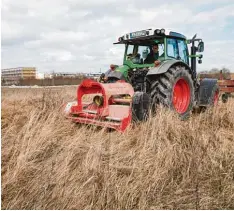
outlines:
[[[2,83],[5,85],[17,85],[21,79],[36,78],[35,67],[16,67],[2,69]]]

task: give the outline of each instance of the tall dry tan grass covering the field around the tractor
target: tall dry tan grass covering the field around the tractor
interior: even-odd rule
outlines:
[[[234,209],[234,102],[126,133],[78,126],[75,89],[2,90],[3,209]]]

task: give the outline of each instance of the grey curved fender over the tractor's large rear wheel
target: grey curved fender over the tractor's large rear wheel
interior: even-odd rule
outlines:
[[[171,60],[163,61],[163,62],[161,62],[161,64],[159,66],[150,69],[146,76],[158,75],[158,74],[165,73],[173,65],[183,65],[183,66],[186,66],[189,70],[191,69],[186,63],[184,63],[180,60],[171,59]]]

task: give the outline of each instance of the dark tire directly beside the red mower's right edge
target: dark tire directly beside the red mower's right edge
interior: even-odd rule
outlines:
[[[132,119],[145,121],[149,117],[150,96],[145,92],[135,92],[132,101]]]

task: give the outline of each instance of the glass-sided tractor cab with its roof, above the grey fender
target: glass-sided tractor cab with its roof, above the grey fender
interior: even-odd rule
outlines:
[[[123,64],[135,67],[136,65],[154,66],[146,58],[153,54],[153,46],[158,46],[156,60],[180,60],[189,65],[189,53],[186,37],[176,32],[166,32],[164,29],[143,30],[126,34],[114,44],[125,44]]]

